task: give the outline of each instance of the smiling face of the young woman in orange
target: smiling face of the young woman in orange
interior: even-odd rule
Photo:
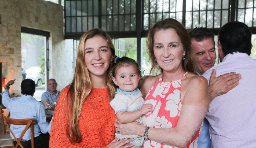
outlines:
[[[101,36],[87,39],[85,42],[85,63],[90,77],[106,77],[113,56],[107,40]]]

